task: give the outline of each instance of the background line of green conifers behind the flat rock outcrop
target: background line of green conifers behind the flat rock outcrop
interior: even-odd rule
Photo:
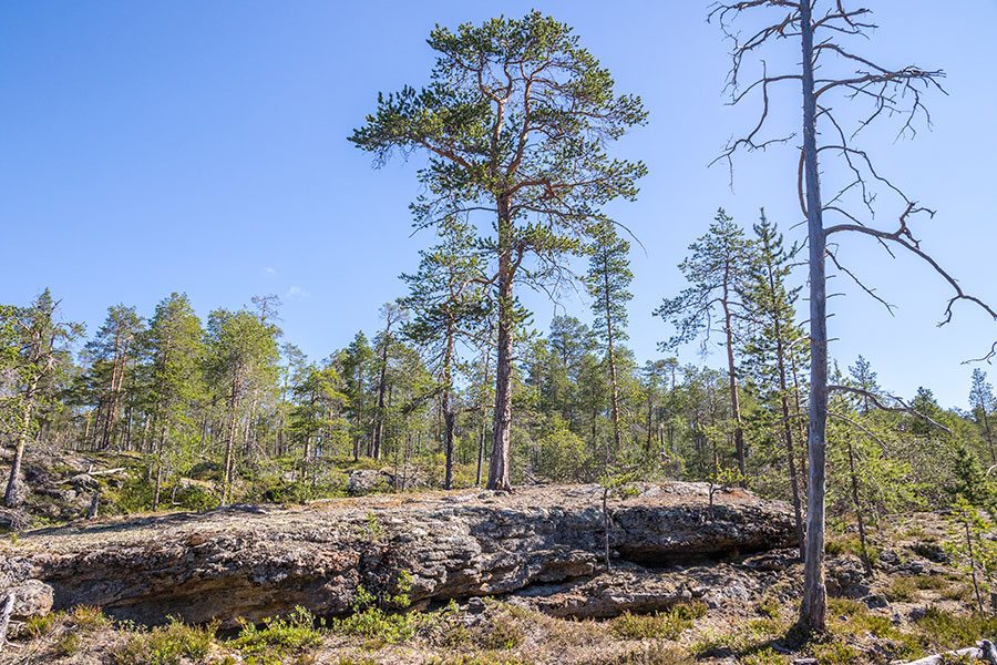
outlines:
[[[514,482],[740,483],[799,511],[809,367],[787,283],[793,256],[775,226],[762,213],[746,232],[720,211],[680,266],[686,288],[656,313],[671,324],[662,336],[675,331],[662,349],[699,340],[730,360],[723,369],[635,357],[625,345],[629,247],[611,227],[602,233],[588,250],[588,320],[557,316],[546,334],[517,338]],[[494,327],[481,316],[476,341],[448,347],[428,321],[435,301],[424,282],[408,280],[409,295],[382,307],[380,330],[322,359],[284,340],[276,296],[206,319],[183,294],[147,316],[115,305],[89,338],[48,290],[4,306],[3,437],[17,447],[7,504],[29,489],[17,479],[30,446],[138,453],[147,474],[136,509],[160,508],[167,493],[173,505],[178,488],[188,508],[336,495],[358,468],[387,469],[395,489],[481,485]],[[862,357],[832,375],[835,518],[946,505],[980,464],[997,463],[981,370],[967,387],[970,412],[943,410],[927,388],[909,402],[890,396]],[[192,494],[185,479],[198,473],[210,483]]]

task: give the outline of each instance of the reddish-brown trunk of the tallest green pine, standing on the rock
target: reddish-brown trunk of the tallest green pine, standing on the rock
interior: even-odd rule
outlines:
[[[511,490],[513,303],[512,221],[508,196],[498,196],[498,349],[495,362],[495,413],[492,427],[490,490]]]

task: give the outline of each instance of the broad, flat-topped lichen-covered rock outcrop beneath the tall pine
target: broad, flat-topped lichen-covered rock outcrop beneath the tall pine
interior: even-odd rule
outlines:
[[[617,561],[664,566],[793,544],[792,513],[782,502],[733,491],[718,493],[710,508],[705,485],[635,488],[636,495],[609,501]],[[37,580],[53,590],[56,610],[90,604],[142,623],[177,615],[233,625],[296,605],[320,615],[347,613],[358,587],[395,594],[411,576],[413,602],[574,584],[551,589],[562,594],[547,603],[552,613],[572,614],[577,605],[576,614],[598,616],[614,603],[582,607],[585,602],[563,594],[587,593],[576,583],[588,577],[600,584],[600,500],[598,485],[553,485],[512,495],[462,491],[286,509],[234,505],[43,529],[0,545],[0,595]],[[660,605],[658,595],[691,593],[681,584],[660,585],[623,605],[640,610]]]

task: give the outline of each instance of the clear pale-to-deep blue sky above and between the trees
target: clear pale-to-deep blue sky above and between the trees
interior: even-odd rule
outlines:
[[[864,52],[944,69],[949,93],[926,100],[933,132],[894,143],[893,125],[871,136],[878,167],[937,208],[918,226],[924,247],[997,303],[997,2],[868,4],[881,29]],[[630,307],[630,345],[641,360],[657,357],[669,335],[651,309],[682,288],[676,265],[719,206],[746,224],[765,206],[789,238],[802,235],[790,231],[801,216],[791,151],[741,156],[733,188],[723,167],[707,167],[751,122],[724,105],[728,48],[705,21],[707,6],[501,3],[510,17],[535,7],[574,25],[618,91],[640,94],[650,113],[618,149],[644,160],[649,175],[636,203],[611,211],[646,248],[633,253]],[[65,317],[93,331],[116,303],[148,316],[171,291],[186,291],[206,316],[276,293],[286,338],[314,358],[358,329],[373,332],[380,304],[403,294],[398,274],[411,272],[433,238],[411,236],[419,161],[374,171],[346,137],[378,91],[426,81],[425,38],[435,23],[480,22],[496,7],[0,3],[0,301],[25,304],[49,286]],[[785,117],[798,123],[799,102],[788,100]],[[972,368],[960,361],[989,348],[997,326],[963,306],[936,328],[947,291],[926,267],[862,238],[845,242],[841,255],[897,311],[891,317],[835,278],[831,290],[846,295],[832,300],[832,356],[844,368],[861,352],[888,390],[911,396],[925,385],[943,406],[965,407]],[[546,329],[555,306],[526,301]],[[561,307],[589,318],[575,295]],[[699,360],[691,348],[680,358]]]

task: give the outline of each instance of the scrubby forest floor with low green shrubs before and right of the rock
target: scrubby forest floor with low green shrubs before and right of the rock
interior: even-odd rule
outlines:
[[[471,598],[408,613],[368,610],[319,621],[299,613],[241,630],[181,623],[147,628],[78,607],[14,626],[3,664],[59,665],[751,665],[906,662],[997,636],[973,612],[969,577],[950,563],[943,516],[881,522],[872,576],[852,533],[829,543],[829,633],[793,628],[801,564],[792,551],[731,559],[690,572],[732,593],[666,612],[606,620],[549,616],[516,596]],[[783,562],[783,563],[780,563]],[[668,575],[668,570],[660,571]],[[706,573],[709,573],[707,575]],[[860,600],[861,598],[861,600]],[[815,658],[812,659],[812,658]],[[958,662],[958,661],[953,661]]]

